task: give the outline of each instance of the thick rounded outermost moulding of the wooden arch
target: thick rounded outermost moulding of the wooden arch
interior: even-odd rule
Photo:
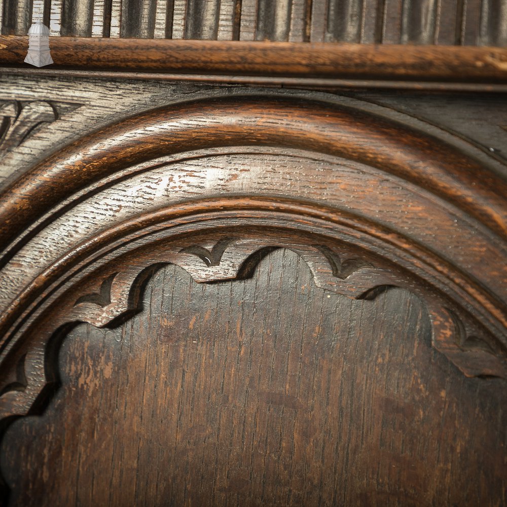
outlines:
[[[273,121],[259,124],[259,115]],[[199,127],[190,128],[189,120]],[[280,126],[273,123],[280,121]],[[215,128],[206,127],[208,124]],[[220,128],[216,128],[218,125]],[[310,131],[309,125],[313,126]],[[132,135],[138,141],[135,152],[126,149]],[[358,143],[358,136],[371,140],[376,149]],[[507,237],[506,182],[442,140],[351,106],[247,94],[198,98],[148,110],[91,132],[42,160],[0,194],[0,250],[6,249],[44,211],[106,174],[160,153],[179,153],[217,143],[279,143],[363,160],[434,192],[475,216],[500,237]],[[410,161],[422,160],[425,150],[432,153],[432,161],[422,173]],[[80,154],[78,159],[76,153]],[[75,178],[77,169],[79,179]]]

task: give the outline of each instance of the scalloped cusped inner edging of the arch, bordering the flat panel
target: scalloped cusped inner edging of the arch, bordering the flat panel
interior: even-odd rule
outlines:
[[[70,302],[68,312],[57,322],[58,328],[51,332],[43,355],[47,349],[54,349],[55,336],[65,336],[69,326],[87,322],[97,328],[114,328],[132,318],[142,309],[142,296],[146,284],[156,271],[169,264],[185,269],[195,281],[210,283],[224,280],[248,278],[260,261],[275,249],[286,248],[294,251],[308,265],[316,286],[353,299],[375,299],[392,286],[408,288],[403,279],[396,278],[382,267],[357,256],[343,255],[325,245],[283,244],[259,240],[240,240],[234,237],[222,238],[214,244],[191,244],[173,250],[172,258],[164,262],[147,261],[138,270],[119,271],[104,274],[93,279],[95,290],[90,287]],[[413,290],[411,292],[414,292]],[[420,293],[416,293],[421,297]],[[424,300],[424,298],[422,298]],[[462,318],[445,306],[427,304],[433,324],[433,346],[444,353],[466,376],[498,376],[507,379],[507,356],[497,345],[472,334]],[[56,325],[55,324],[55,325]],[[477,331],[477,330],[475,330]],[[61,341],[61,340],[60,340]],[[57,347],[58,348],[58,347]],[[23,415],[14,407],[25,407],[26,411],[37,399],[47,383],[58,378],[56,361],[44,359],[44,377],[29,387],[24,374],[26,353],[18,360],[15,373],[0,385],[1,417]],[[53,352],[50,355],[55,355]],[[39,357],[39,356],[38,356]],[[20,373],[21,372],[21,373]],[[53,379],[53,380],[52,380]]]

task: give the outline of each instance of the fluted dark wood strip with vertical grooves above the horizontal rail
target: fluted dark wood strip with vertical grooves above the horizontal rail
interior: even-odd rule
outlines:
[[[51,12],[52,35],[76,37],[90,37],[89,28],[93,25],[93,37],[507,46],[506,0],[147,0],[140,3],[24,0],[4,4],[2,34],[26,34],[30,10],[38,13],[44,9],[46,24]],[[56,18],[63,19],[61,25]]]

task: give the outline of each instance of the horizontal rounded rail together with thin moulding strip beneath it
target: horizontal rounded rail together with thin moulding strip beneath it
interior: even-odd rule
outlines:
[[[55,63],[34,69],[23,62],[27,47],[27,37],[0,36],[0,71],[274,86],[505,91],[507,85],[507,48],[52,37]]]

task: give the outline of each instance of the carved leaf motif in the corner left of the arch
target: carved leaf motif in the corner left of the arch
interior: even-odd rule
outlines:
[[[12,100],[0,107],[0,118],[0,152],[6,153],[18,147],[41,123],[53,122],[58,115],[53,105],[44,100]]]

